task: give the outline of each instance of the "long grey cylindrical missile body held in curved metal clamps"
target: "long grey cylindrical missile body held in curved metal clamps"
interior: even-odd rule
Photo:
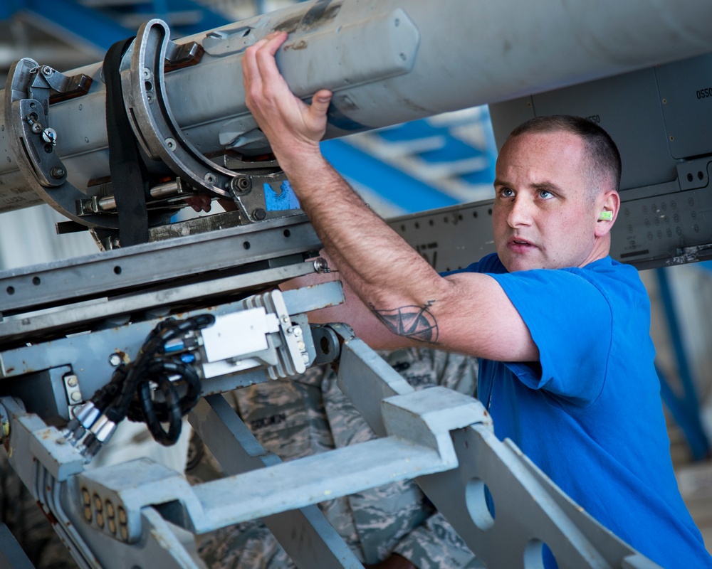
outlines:
[[[194,65],[152,78],[150,88],[162,93],[164,114],[176,129],[178,142],[176,137],[154,132],[158,127],[150,118],[139,117],[133,126],[149,155],[150,170],[172,171],[187,178],[190,186],[228,195],[226,182],[211,186],[215,176],[184,172],[196,163],[194,159],[178,160],[176,165],[166,164],[165,157],[170,162],[177,155],[172,144],[187,147],[198,160],[216,163],[225,154],[249,157],[269,151],[244,103],[241,56],[247,46],[273,30],[290,33],[277,58],[293,91],[305,100],[320,88],[335,92],[327,132],[328,138],[334,138],[712,51],[707,25],[712,3],[654,4],[617,0],[316,0],[296,4],[175,43],[160,37],[150,40],[148,49],[151,41],[164,43],[155,48],[157,53],[189,43],[204,53]],[[156,21],[147,25],[160,36]],[[122,63],[130,115],[136,115],[135,109],[141,106],[140,92],[126,92],[127,85],[140,89],[140,81],[127,79],[131,73],[137,76],[132,67],[138,51],[133,46]],[[32,151],[26,150],[26,144],[23,147],[25,117],[18,114],[13,101],[17,107],[17,100],[30,97],[16,92],[19,72],[9,77],[1,95],[5,112],[0,119],[0,212],[46,201],[80,223],[102,226],[106,218],[74,211],[76,195],[72,192],[96,196],[102,187],[98,181],[110,176],[103,65],[96,63],[64,75],[85,75],[93,83],[85,95],[49,105],[46,124],[41,124],[42,129],[55,133],[56,144],[51,149],[45,144],[48,154],[62,166],[53,172],[65,174],[58,176],[58,182],[50,180],[53,186],[38,175]],[[154,142],[149,140],[152,137]],[[219,172],[217,177],[221,176]],[[69,197],[62,198],[63,192]]]

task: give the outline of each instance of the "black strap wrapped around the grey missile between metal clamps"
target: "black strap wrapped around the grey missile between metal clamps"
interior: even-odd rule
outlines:
[[[104,58],[109,170],[122,247],[148,242],[148,176],[126,116],[119,72],[121,59],[133,39],[117,41]]]

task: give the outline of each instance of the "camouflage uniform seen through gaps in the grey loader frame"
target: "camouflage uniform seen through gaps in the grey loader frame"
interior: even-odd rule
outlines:
[[[476,361],[430,349],[383,354],[415,389],[434,385],[473,395]],[[336,383],[331,368],[269,381],[234,392],[234,406],[258,441],[283,460],[376,437]],[[417,484],[407,480],[320,504],[327,519],[363,563],[399,553],[420,569],[478,568],[471,551]],[[293,568],[260,521],[240,523],[202,538],[210,569]]]

